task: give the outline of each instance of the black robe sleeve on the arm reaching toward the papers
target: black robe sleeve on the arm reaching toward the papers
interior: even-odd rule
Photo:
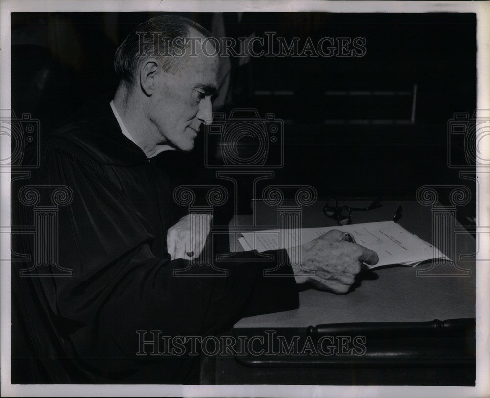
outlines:
[[[72,325],[78,351],[97,340],[101,347],[116,344],[131,357],[138,351],[138,330],[204,336],[229,329],[244,316],[299,306],[289,264],[279,267],[282,276],[265,275],[278,264],[280,251],[268,252],[272,262],[257,261],[254,252],[220,262],[226,276],[205,276],[210,269],[204,264],[189,271],[202,276],[177,276],[174,271],[189,262],[153,255],[147,223],[89,157],[52,150],[36,176],[36,184],[65,185],[73,192],[72,202],[58,213],[58,263],[73,276],[53,278],[54,294],[47,296]]]

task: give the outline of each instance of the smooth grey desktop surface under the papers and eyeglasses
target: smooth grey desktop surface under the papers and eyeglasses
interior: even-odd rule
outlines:
[[[360,202],[345,201],[345,204],[357,206]],[[390,220],[400,204],[403,207],[400,225],[432,243],[431,208],[417,202],[383,201],[381,208],[353,212],[352,220],[355,223]],[[323,203],[319,202],[304,208],[303,227],[336,225],[335,221],[323,215],[322,206]],[[256,230],[277,225],[275,208],[258,203],[255,214],[255,218],[261,221]],[[230,232],[240,231],[244,225],[250,228],[251,221],[252,216],[235,217],[230,223]],[[459,226],[457,222],[456,224]],[[236,235],[231,233],[231,250],[234,250],[235,242]],[[433,275],[436,271],[454,274],[455,267],[450,265],[434,266],[433,273],[417,276],[417,270],[431,267],[430,262],[417,267],[395,266],[362,271],[353,289],[347,294],[338,295],[315,289],[301,291],[299,309],[243,318],[235,328],[287,328],[338,322],[415,322],[473,318],[475,261],[462,261],[459,256],[474,253],[475,246],[475,239],[470,234],[458,231],[455,260],[459,268],[471,271],[469,276]]]

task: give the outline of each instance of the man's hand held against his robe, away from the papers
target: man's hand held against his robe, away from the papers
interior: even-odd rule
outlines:
[[[211,228],[211,214],[188,214],[167,232],[167,250],[172,260],[199,257]]]

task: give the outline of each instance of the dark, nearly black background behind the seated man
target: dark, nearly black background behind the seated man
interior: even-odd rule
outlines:
[[[42,139],[88,99],[113,93],[118,44],[154,15],[13,13],[16,115],[39,119]],[[212,28],[212,13],[181,15]],[[223,19],[226,35],[234,37],[274,31],[288,40],[300,37],[300,43],[306,37],[314,43],[326,36],[366,38],[361,58],[262,57],[241,66],[230,60],[231,88],[220,110],[256,108],[260,117],[272,112],[284,120],[284,166],[267,184],[309,184],[320,198],[415,199],[417,188],[426,184],[466,184],[475,191],[447,161],[448,121],[455,112],[471,117],[476,108],[474,14],[244,13],[239,21],[237,14],[226,13]],[[260,94],[276,90],[294,94]],[[339,91],[347,94],[326,95]],[[359,91],[365,93],[348,94]],[[215,170],[203,167],[203,148],[201,134],[193,152],[161,157],[174,185],[213,182]],[[462,145],[451,150],[464,161]],[[251,177],[245,174],[240,181],[244,212],[252,197]],[[460,218],[474,216],[474,206],[473,201],[460,211]]]

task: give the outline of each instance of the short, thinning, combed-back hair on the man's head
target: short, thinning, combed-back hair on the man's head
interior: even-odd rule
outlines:
[[[123,43],[116,50],[114,69],[119,79],[129,87],[132,86],[140,65],[149,57],[161,59],[163,70],[166,72],[177,72],[187,57],[161,55],[161,53],[158,53],[160,51],[157,52],[155,50],[157,46],[146,46],[144,51],[145,55],[141,55],[140,40],[142,40],[141,37],[144,37],[144,35],[154,34],[153,37],[156,37],[156,40],[158,40],[157,48],[164,48],[165,54],[171,54],[172,49],[175,48],[173,43],[180,41],[182,44],[184,39],[188,38],[189,28],[196,29],[205,38],[211,37],[211,33],[207,29],[180,15],[161,15],[140,23],[127,35]],[[152,49],[147,52],[147,47]],[[189,41],[187,41],[184,47],[189,47]]]

